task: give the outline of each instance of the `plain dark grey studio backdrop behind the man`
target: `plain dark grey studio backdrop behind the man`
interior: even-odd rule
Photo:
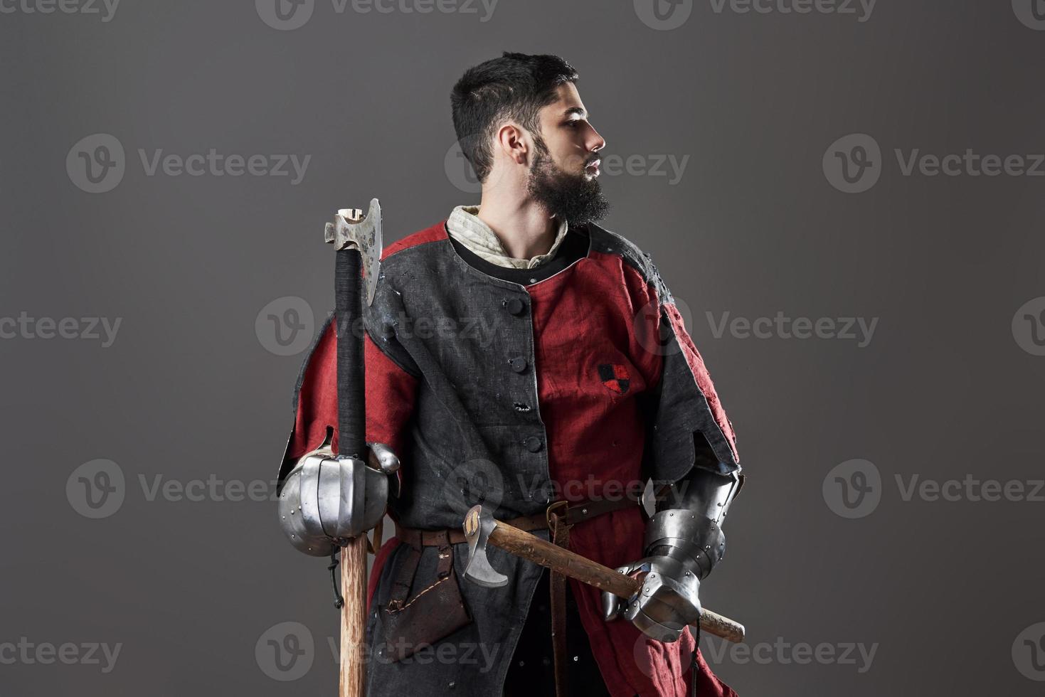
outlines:
[[[776,649],[716,659],[721,645],[704,644],[717,673],[747,696],[1041,694],[1045,671],[1021,673],[1013,648],[1045,621],[1045,503],[904,501],[895,475],[1043,477],[1045,357],[1013,327],[1045,295],[1045,180],[905,177],[893,149],[1045,152],[1045,31],[973,0],[881,0],[863,22],[705,0],[672,30],[630,2],[502,0],[488,21],[474,8],[317,0],[294,30],[250,2],[127,1],[109,22],[0,14],[0,317],[121,318],[109,347],[0,340],[0,644],[122,644],[109,673],[0,664],[0,694],[334,694],[325,563],[284,541],[275,505],[149,501],[139,478],[275,475],[303,354],[274,353],[259,311],[300,297],[318,323],[332,306],[320,233],[334,209],[379,196],[388,243],[478,201],[444,167],[448,93],[502,50],[571,61],[606,154],[689,156],[675,184],[602,181],[607,227],[688,305],[749,474],[706,604],[745,622],[752,646],[878,645],[860,672]],[[98,133],[120,141],[126,171],[88,193],[65,163]],[[854,133],[880,145],[881,176],[843,193],[821,159]],[[294,186],[146,176],[139,148],[311,160]],[[878,324],[860,348],[716,336],[706,316],[777,311]],[[66,493],[95,459],[125,477],[99,519]],[[877,509],[850,519],[826,492],[853,459],[882,484]],[[282,622],[316,642],[295,682],[255,652]]]

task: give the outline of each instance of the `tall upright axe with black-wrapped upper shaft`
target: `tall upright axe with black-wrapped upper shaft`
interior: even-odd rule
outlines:
[[[366,382],[363,367],[364,336],[356,331],[363,303],[374,300],[381,256],[381,208],[370,202],[366,216],[357,209],[338,211],[324,230],[325,241],[338,252],[334,269],[334,308],[338,329],[338,455],[367,462]],[[366,299],[361,279],[366,278]],[[342,506],[356,510],[363,503],[363,470],[350,491],[342,489]],[[351,499],[349,499],[351,498]],[[379,540],[377,540],[379,541]],[[341,554],[341,593],[345,599],[341,617],[340,697],[366,694],[364,642],[367,626],[367,535],[346,540]]]

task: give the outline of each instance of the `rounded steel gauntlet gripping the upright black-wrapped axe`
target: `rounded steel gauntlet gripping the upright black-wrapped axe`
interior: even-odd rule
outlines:
[[[388,505],[389,474],[399,469],[399,459],[381,443],[369,444],[372,466],[334,455],[331,435],[328,429],[323,443],[302,456],[279,485],[280,527],[291,544],[317,557],[377,525]]]

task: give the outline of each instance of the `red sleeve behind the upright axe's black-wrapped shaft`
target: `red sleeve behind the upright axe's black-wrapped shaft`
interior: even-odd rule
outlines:
[[[367,386],[367,441],[385,443],[402,455],[403,429],[414,411],[417,378],[393,363],[367,334],[364,358]],[[338,450],[338,335],[334,322],[306,358],[294,435],[287,454],[298,459],[319,446],[327,426],[333,428]]]

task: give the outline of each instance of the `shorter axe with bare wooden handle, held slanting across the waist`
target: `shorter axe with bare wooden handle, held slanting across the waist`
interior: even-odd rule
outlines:
[[[482,506],[473,506],[464,518],[464,536],[468,540],[468,564],[464,575],[479,585],[497,588],[508,582],[508,577],[490,565],[486,556],[487,544],[500,547],[517,557],[551,568],[563,576],[608,590],[619,598],[631,598],[642,588],[641,578],[625,576],[576,552],[552,544],[536,535],[494,519]],[[744,625],[704,608],[698,623],[701,631],[720,636],[727,642],[744,641]]]

